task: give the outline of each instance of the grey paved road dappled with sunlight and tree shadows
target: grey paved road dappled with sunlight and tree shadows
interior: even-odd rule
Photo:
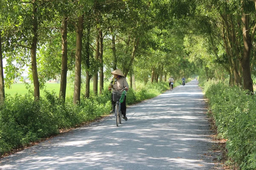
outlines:
[[[197,81],[0,160],[3,170],[209,170],[212,141]]]

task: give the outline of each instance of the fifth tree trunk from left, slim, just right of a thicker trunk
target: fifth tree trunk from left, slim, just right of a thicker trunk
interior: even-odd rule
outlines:
[[[87,32],[86,32],[86,44],[85,44],[85,68],[86,68],[86,79],[85,79],[85,98],[90,97],[90,24],[87,24]]]

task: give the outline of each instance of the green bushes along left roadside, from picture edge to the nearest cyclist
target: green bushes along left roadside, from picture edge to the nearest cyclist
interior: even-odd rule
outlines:
[[[0,108],[0,154],[29,142],[58,133],[82,122],[92,121],[111,109],[107,98],[82,99],[80,106],[58,99],[54,92],[44,91],[40,101],[31,95],[7,96]],[[102,102],[102,101],[101,101]]]

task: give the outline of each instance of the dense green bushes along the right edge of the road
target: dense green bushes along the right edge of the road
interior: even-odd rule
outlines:
[[[227,140],[228,156],[242,170],[256,169],[256,99],[223,82],[204,84],[218,133]]]

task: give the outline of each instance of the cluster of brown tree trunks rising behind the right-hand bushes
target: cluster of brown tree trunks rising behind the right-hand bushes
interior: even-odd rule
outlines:
[[[221,14],[222,17],[222,39],[224,47],[229,59],[230,66],[230,85],[243,85],[245,90],[253,93],[253,81],[250,73],[250,52],[255,34],[256,25],[249,27],[250,14],[242,13],[241,19],[237,19],[235,23],[238,24],[238,29],[241,28],[243,44],[236,39],[236,31],[233,18],[231,15]],[[241,22],[242,21],[242,22]],[[239,48],[243,51],[239,51]],[[240,57],[241,56],[241,57]]]

